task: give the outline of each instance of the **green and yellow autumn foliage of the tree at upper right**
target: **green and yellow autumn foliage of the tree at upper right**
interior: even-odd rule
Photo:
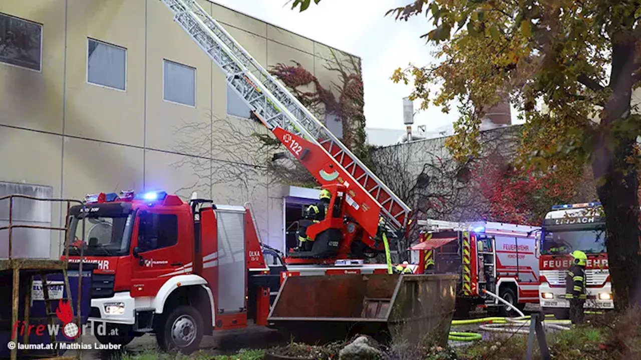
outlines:
[[[569,156],[586,161],[597,130],[589,119],[606,115],[598,106],[617,84],[631,80],[608,77],[604,69],[613,61],[613,38],[637,40],[635,11],[637,4],[628,1],[413,1],[388,14],[402,20],[431,17],[434,29],[423,37],[437,45],[442,61],[398,69],[392,79],[412,82],[411,98],[421,100],[423,109],[440,106],[447,112],[452,101],[460,103],[457,134],[447,144],[460,158],[478,152],[475,139],[487,107],[509,97],[526,120],[524,161],[544,159],[540,167]],[[624,55],[634,57],[634,50]],[[435,84],[441,89],[430,92]],[[622,135],[641,134],[637,115],[604,120],[612,124],[606,136],[611,146]]]

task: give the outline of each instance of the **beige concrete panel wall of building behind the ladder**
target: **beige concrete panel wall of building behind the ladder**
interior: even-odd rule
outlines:
[[[337,80],[323,68],[326,45],[199,3],[263,66],[296,60],[328,87]],[[282,187],[265,176],[267,158],[250,136],[267,131],[226,115],[221,70],[164,4],[0,0],[0,12],[43,28],[40,70],[0,62],[0,181],[52,186],[56,197],[163,189],[251,201],[263,239],[282,246]],[[124,90],[88,83],[87,38],[126,49]],[[163,60],[196,69],[196,106],[163,100]],[[60,224],[60,208],[54,218]]]

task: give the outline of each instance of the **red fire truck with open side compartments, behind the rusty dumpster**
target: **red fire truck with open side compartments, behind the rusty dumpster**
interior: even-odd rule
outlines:
[[[499,222],[419,220],[418,272],[460,274],[456,307],[463,316],[470,307],[495,307],[512,313],[483,290],[523,309],[538,302],[539,227]]]

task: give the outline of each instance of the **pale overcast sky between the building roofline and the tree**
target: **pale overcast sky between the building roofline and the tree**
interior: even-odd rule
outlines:
[[[420,35],[431,24],[424,16],[405,21],[385,17],[385,12],[407,4],[409,0],[322,0],[303,13],[285,6],[287,0],[213,0],[238,12],[246,13],[331,47],[362,58],[365,86],[365,117],[368,127],[403,129],[403,97],[411,86],[390,80],[397,67],[410,62],[429,63],[433,47]],[[415,108],[418,108],[418,102]],[[445,126],[456,119],[437,108],[415,116],[415,124],[428,130]]]

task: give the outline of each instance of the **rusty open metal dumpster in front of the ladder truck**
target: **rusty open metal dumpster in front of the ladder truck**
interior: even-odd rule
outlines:
[[[458,275],[287,277],[267,322],[297,341],[367,334],[378,341],[447,344]]]

